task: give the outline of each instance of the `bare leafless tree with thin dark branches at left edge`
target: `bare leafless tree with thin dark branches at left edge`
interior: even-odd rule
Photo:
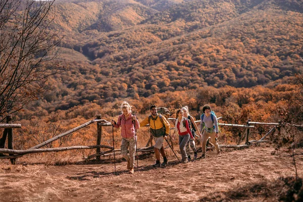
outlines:
[[[58,33],[48,27],[54,1],[0,0],[0,120],[18,112],[45,89],[47,77],[61,71],[53,52]]]

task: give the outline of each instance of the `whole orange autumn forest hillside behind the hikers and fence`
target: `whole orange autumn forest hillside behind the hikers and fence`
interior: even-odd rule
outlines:
[[[197,119],[211,104],[226,123],[301,124],[302,1],[58,0],[52,13],[66,71],[20,119],[110,120],[127,100],[138,114],[188,105]]]

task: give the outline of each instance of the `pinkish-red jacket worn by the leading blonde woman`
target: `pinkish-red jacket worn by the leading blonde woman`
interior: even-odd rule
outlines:
[[[117,124],[114,125],[115,128],[120,128],[121,126],[121,136],[124,138],[130,138],[135,136],[135,127],[132,121],[133,115],[130,115],[127,120],[125,120],[124,114],[118,117]],[[136,129],[139,129],[140,125],[138,120],[135,121]]]

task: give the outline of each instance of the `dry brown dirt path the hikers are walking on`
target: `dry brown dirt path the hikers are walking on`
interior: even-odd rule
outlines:
[[[139,160],[139,173],[135,170],[134,175],[125,171],[126,162],[120,162],[117,163],[117,176],[114,165],[106,163],[0,165],[0,201],[224,200],[224,193],[248,183],[294,176],[290,154],[273,155],[273,151],[272,147],[251,147],[223,151],[220,157],[209,151],[207,159],[187,164],[170,161],[165,169],[151,167],[154,161],[149,158]],[[302,151],[296,151],[299,176],[303,174]],[[259,201],[260,198],[247,200]]]

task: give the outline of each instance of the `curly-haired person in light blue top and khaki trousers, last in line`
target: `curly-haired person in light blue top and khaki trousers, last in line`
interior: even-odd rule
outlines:
[[[202,156],[201,159],[206,158],[206,143],[208,138],[211,138],[211,142],[215,145],[217,155],[220,155],[220,148],[217,142],[219,135],[218,120],[214,112],[212,112],[211,106],[205,105],[202,109],[203,114],[201,115],[200,131],[202,134]]]

